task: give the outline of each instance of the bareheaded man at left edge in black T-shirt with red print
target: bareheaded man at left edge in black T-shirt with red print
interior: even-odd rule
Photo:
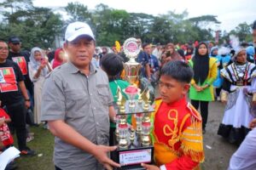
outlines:
[[[0,100],[15,127],[20,154],[34,155],[34,151],[26,147],[26,108],[30,106],[30,99],[20,67],[7,59],[8,54],[7,43],[0,40]]]

